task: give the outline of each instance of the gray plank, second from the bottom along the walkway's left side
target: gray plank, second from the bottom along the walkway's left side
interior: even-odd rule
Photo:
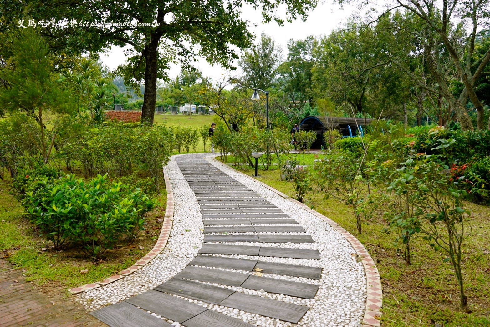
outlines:
[[[158,291],[142,293],[127,299],[126,302],[179,323],[206,311],[205,307]]]

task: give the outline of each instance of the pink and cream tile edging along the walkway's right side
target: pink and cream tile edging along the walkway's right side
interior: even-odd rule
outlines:
[[[214,159],[216,157],[217,156],[215,155],[215,156],[210,156],[209,158],[212,158],[214,161],[221,163],[220,161]],[[381,322],[379,319],[381,317],[381,307],[383,305],[383,291],[381,289],[381,279],[379,276],[378,268],[376,268],[376,263],[371,258],[371,256],[368,253],[368,250],[366,250],[364,245],[354,235],[350,234],[345,229],[343,229],[339,224],[337,224],[335,221],[325,217],[318,211],[312,210],[304,203],[301,203],[293,199],[292,197],[278,191],[277,189],[270,187],[269,185],[261,181],[258,181],[252,176],[249,176],[239,170],[236,171],[246,176],[247,178],[254,180],[255,182],[262,185],[263,187],[270,189],[272,192],[282,196],[283,198],[288,199],[289,201],[299,205],[301,208],[310,212],[311,214],[317,216],[318,218],[320,218],[321,220],[325,221],[330,226],[332,226],[337,232],[342,234],[347,239],[347,241],[352,245],[354,250],[356,250],[357,255],[362,259],[364,271],[366,273],[366,282],[368,285],[368,289],[367,289],[368,297],[366,299],[366,311],[364,313],[362,327],[369,327],[369,326],[380,327]]]

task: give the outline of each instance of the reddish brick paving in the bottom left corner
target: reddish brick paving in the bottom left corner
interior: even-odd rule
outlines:
[[[62,295],[44,293],[0,259],[0,326],[105,326]],[[53,304],[54,303],[54,304]]]

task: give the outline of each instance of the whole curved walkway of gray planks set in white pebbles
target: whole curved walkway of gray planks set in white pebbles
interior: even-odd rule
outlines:
[[[365,315],[353,236],[202,154],[172,157],[168,172],[168,246],[123,280],[81,293],[92,309],[112,304],[92,315],[110,326],[379,326]]]

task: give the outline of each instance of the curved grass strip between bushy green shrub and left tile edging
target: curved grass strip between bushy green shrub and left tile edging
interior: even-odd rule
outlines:
[[[164,190],[158,206],[147,217],[146,230],[133,244],[119,242],[107,250],[100,261],[89,261],[76,249],[55,251],[24,216],[24,208],[8,193],[8,181],[0,183],[0,253],[23,269],[27,281],[51,288],[50,292],[67,294],[67,289],[107,277],[131,266],[153,247],[165,215],[167,195]],[[159,221],[160,220],[160,221]],[[143,246],[140,250],[138,245]],[[43,249],[46,248],[45,251]],[[80,271],[87,270],[82,274]]]

